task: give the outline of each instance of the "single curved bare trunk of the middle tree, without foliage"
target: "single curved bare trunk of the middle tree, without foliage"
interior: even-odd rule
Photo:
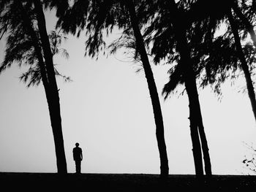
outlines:
[[[151,96],[151,103],[154,111],[154,120],[156,124],[157,145],[159,149],[160,164],[161,164],[160,176],[163,178],[166,178],[167,175],[169,174],[169,166],[168,166],[168,158],[167,158],[167,151],[166,151],[166,145],[165,145],[164,123],[162,120],[162,111],[161,111],[161,106],[159,102],[159,96],[157,93],[157,86],[156,86],[156,83],[154,82],[154,76],[148,61],[148,55],[146,53],[146,48],[143,43],[143,37],[140,33],[138,18],[135,12],[135,5],[133,4],[132,0],[126,0],[125,3],[129,11],[129,18],[130,18],[132,29],[136,39],[136,46],[140,53],[140,58],[143,63],[143,69],[145,72],[146,80],[148,82],[148,89]]]

